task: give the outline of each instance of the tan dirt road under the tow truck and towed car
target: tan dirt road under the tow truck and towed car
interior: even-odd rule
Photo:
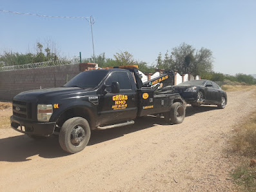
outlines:
[[[232,126],[255,109],[254,91],[228,93],[224,110],[188,106],[182,124],[145,117],[95,131],[74,155],[54,137],[35,141],[2,128],[0,191],[232,191],[235,165],[223,149]]]

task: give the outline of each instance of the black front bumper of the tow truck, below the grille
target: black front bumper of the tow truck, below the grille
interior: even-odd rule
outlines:
[[[29,122],[27,120],[18,119],[13,115],[10,117],[10,121],[14,130],[31,135],[52,135],[56,125],[56,122]]]

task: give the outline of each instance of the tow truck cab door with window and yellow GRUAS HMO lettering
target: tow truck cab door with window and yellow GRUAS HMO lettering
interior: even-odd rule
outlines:
[[[101,124],[112,124],[125,120],[135,119],[137,115],[136,91],[132,89],[127,72],[112,72],[105,81],[107,86],[112,82],[119,82],[120,92],[111,93],[111,88],[106,88],[108,93],[99,98],[98,115]]]

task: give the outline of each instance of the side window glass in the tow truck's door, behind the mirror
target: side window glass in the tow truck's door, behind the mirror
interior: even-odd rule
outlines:
[[[113,81],[119,82],[119,86],[121,90],[131,89],[130,79],[126,72],[114,72],[108,77],[106,80],[106,84],[110,86]]]

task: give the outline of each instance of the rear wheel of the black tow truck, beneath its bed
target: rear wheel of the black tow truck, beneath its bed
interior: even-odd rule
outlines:
[[[170,117],[172,124],[180,124],[185,118],[185,108],[180,102],[175,102],[171,106]]]

